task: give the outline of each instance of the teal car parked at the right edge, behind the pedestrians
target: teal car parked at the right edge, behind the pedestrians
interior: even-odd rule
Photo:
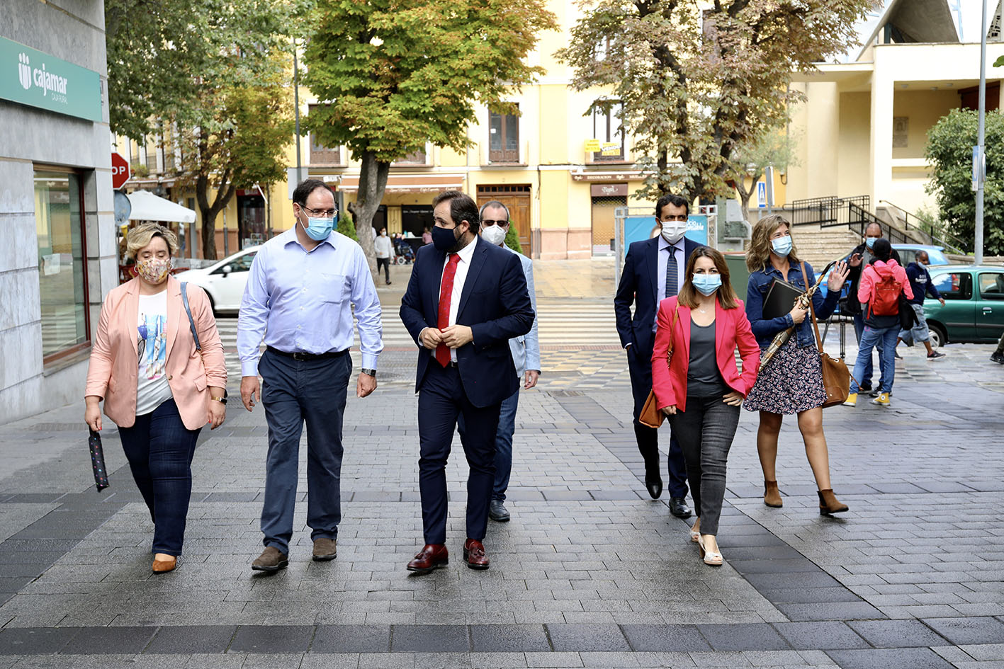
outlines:
[[[997,343],[1004,333],[1004,267],[942,265],[928,272],[945,298],[944,307],[931,297],[924,302],[931,343]]]

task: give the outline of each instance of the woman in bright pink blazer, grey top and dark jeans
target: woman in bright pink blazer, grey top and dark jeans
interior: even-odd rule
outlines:
[[[736,366],[737,347],[742,372]],[[680,295],[659,306],[652,384],[683,447],[697,512],[691,541],[708,565],[722,564],[717,535],[726,459],[759,362],[760,347],[732,290],[725,257],[701,247],[687,263]]]

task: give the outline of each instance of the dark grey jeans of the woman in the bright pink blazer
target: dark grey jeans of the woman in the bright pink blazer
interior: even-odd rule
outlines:
[[[729,406],[720,395],[688,397],[687,410],[670,416],[670,424],[683,442],[701,534],[718,535],[725,498],[725,463],[739,426],[739,407]]]

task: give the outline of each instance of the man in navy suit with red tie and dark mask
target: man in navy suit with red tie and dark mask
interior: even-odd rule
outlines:
[[[419,249],[401,320],[420,346],[419,488],[426,545],[408,564],[428,574],[446,566],[446,462],[458,416],[470,466],[464,561],[488,569],[482,540],[495,483],[495,432],[502,400],[519,381],[509,340],[533,325],[519,258],[478,236],[478,206],[458,191],[433,201],[433,243]]]

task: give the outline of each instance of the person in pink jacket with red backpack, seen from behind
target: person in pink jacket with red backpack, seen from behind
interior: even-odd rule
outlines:
[[[861,272],[861,282],[857,288],[857,301],[861,303],[864,315],[864,333],[861,335],[860,348],[857,351],[857,361],[850,378],[850,394],[844,402],[847,406],[857,403],[858,379],[864,373],[864,367],[871,359],[871,349],[880,341],[883,343],[882,355],[886,359],[886,371],[883,372],[878,396],[871,402],[881,406],[889,406],[889,398],[893,392],[893,381],[896,378],[896,338],[900,333],[900,294],[913,299],[914,291],[907,278],[907,271],[893,259],[893,245],[886,238],[875,240],[871,248],[874,258],[871,264]],[[854,297],[854,296],[851,296]]]

